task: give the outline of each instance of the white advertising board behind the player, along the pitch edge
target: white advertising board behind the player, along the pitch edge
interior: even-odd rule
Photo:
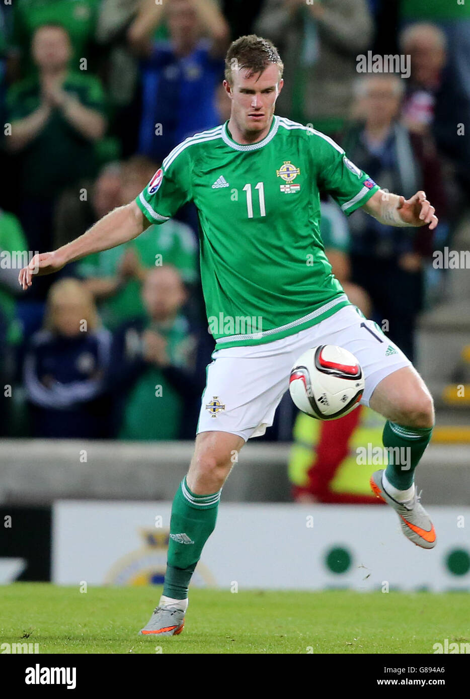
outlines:
[[[470,591],[470,508],[429,508],[437,545],[408,541],[390,507],[222,503],[193,584]],[[59,500],[52,581],[162,582],[171,503]]]

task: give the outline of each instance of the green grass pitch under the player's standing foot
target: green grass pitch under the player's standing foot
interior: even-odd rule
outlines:
[[[263,592],[192,589],[183,633],[143,637],[158,587],[0,588],[0,642],[39,653],[404,653],[469,642],[470,595],[450,592]]]

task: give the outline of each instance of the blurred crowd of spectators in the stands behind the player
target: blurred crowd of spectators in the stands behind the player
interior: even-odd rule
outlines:
[[[283,57],[278,114],[436,207],[432,236],[322,202],[336,277],[413,359],[420,312],[446,294],[432,252],[450,245],[470,194],[470,3],[15,0],[0,6],[3,435],[194,436],[214,347],[194,207],[24,293],[17,268],[21,252],[64,245],[134,199],[175,145],[229,118],[223,59],[250,33]],[[359,73],[369,51],[409,56],[408,77]],[[283,403],[266,438],[292,438],[293,419]]]

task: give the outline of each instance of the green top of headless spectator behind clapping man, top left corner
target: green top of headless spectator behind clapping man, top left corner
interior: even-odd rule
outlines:
[[[80,59],[90,59],[100,0],[14,0],[13,36],[10,57],[14,78],[35,70],[29,48],[36,30],[44,24],[60,24],[71,40],[71,68],[80,69]],[[88,66],[90,69],[90,66]]]

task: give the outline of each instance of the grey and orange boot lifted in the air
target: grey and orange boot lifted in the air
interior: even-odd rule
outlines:
[[[400,518],[401,531],[409,540],[423,549],[433,549],[436,545],[436,532],[429,514],[420,504],[420,498],[416,495],[416,490],[411,500],[399,503],[390,496],[382,483],[384,471],[376,471],[371,476],[371,489],[380,500],[387,505],[392,505]]]

